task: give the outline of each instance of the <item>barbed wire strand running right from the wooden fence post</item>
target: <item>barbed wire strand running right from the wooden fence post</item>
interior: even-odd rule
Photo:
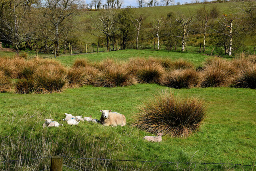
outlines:
[[[240,166],[249,166],[256,167],[256,165],[243,165],[235,163],[201,163],[201,162],[171,162],[171,161],[141,161],[141,160],[123,160],[123,159],[100,159],[100,158],[79,158],[79,157],[69,157],[62,156],[73,159],[92,159],[92,160],[106,160],[106,161],[133,161],[133,162],[144,162],[144,163],[169,163],[169,164],[204,164],[204,165],[240,165]]]

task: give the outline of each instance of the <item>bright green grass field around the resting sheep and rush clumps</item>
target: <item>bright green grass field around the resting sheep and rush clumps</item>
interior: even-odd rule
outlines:
[[[1,55],[0,55],[1,56]],[[104,58],[128,60],[131,57],[170,57],[184,58],[200,65],[208,56],[192,53],[178,53],[152,50],[122,50],[117,52],[61,56],[56,58],[62,64],[71,65],[75,58],[91,61]],[[88,150],[100,149],[106,159],[128,159],[144,161],[239,163],[255,165],[256,160],[256,91],[240,88],[192,88],[170,89],[181,97],[200,97],[206,101],[207,117],[200,131],[186,139],[163,136],[160,143],[144,141],[145,131],[133,128],[136,107],[152,94],[170,89],[157,84],[137,84],[130,87],[92,87],[84,86],[66,89],[52,94],[0,93],[0,137],[16,137],[19,133],[28,134],[41,141],[44,133],[58,139],[59,151],[63,144],[75,136],[86,134]],[[125,127],[103,127],[80,122],[77,126],[64,123],[64,113],[100,118],[100,109],[111,109],[126,116]],[[42,128],[44,118],[53,118],[63,127]],[[26,122],[25,122],[26,120]],[[92,143],[94,142],[94,143]],[[54,142],[52,142],[54,144]],[[48,145],[51,148],[50,145]],[[104,147],[104,149],[102,149]],[[77,151],[69,155],[81,157]],[[58,154],[58,150],[52,152]],[[16,155],[18,156],[18,155]],[[91,157],[88,155],[87,157]],[[99,156],[101,157],[101,156]],[[103,156],[102,156],[103,157]],[[16,159],[15,156],[12,159]],[[128,164],[127,164],[128,163]],[[157,163],[110,162],[121,170],[251,170],[251,167],[229,165],[171,165]],[[145,167],[147,166],[147,167]],[[1,165],[0,165],[1,167]],[[180,168],[179,168],[180,167]],[[126,169],[125,169],[126,168]]]

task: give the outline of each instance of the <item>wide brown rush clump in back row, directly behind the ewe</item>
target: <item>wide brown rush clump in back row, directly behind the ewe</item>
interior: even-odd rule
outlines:
[[[99,72],[93,80],[94,86],[117,87],[130,86],[137,81],[126,64],[113,64],[106,66],[104,71]]]

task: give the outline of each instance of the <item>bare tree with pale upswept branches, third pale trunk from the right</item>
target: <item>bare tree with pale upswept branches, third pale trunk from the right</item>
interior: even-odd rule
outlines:
[[[181,38],[181,40],[182,40],[181,51],[182,52],[184,52],[184,50],[185,50],[186,42],[188,40],[188,35],[193,30],[191,28],[191,26],[192,26],[192,24],[194,24],[194,22],[195,22],[194,16],[185,17],[185,16],[181,15],[180,17],[175,19],[174,24],[171,24],[171,26],[173,26],[174,28],[177,29],[179,34],[178,35],[170,35],[170,36]]]

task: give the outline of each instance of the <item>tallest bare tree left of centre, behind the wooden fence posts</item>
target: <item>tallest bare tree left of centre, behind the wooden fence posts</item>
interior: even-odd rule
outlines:
[[[71,20],[75,15],[76,12],[72,9],[72,6],[78,2],[79,0],[44,0],[42,2],[44,7],[43,16],[54,28],[49,31],[53,32],[55,35],[54,44],[56,48],[56,56],[60,55],[60,27],[65,20]]]

